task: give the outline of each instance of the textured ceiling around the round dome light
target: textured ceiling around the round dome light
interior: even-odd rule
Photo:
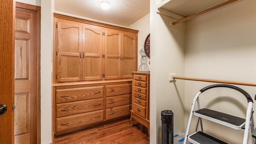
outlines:
[[[122,26],[130,26],[150,12],[150,0],[108,0],[109,10],[102,10],[102,0],[55,0],[55,10]]]

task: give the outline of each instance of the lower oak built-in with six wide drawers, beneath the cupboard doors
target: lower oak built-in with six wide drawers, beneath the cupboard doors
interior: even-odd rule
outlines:
[[[54,86],[54,134],[130,116],[132,81]]]

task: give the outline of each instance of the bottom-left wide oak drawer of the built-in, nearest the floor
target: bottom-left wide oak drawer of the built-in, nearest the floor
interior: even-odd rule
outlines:
[[[103,122],[103,110],[57,118],[56,132],[70,130],[72,128],[77,128],[96,122]]]

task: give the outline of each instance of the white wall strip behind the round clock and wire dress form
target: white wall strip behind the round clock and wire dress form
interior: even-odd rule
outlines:
[[[140,55],[140,50],[144,50],[144,42],[146,37],[148,36],[148,34],[150,33],[150,14],[147,14],[146,16],[140,18],[140,20],[134,22],[133,24],[131,24],[130,26],[128,26],[128,28],[134,29],[134,30],[139,30],[138,32],[138,68],[141,64],[140,59],[141,59],[141,55]],[[147,62],[147,66],[150,70],[150,58],[146,57],[148,62]]]

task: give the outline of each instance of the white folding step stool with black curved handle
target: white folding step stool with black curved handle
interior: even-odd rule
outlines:
[[[232,116],[230,114],[225,114],[222,112],[217,112],[215,110],[210,110],[207,108],[200,109],[199,95],[206,90],[209,90],[211,88],[218,88],[218,87],[232,88],[234,90],[237,90],[238,92],[241,92],[246,97],[248,102],[248,107],[247,107],[245,119]],[[198,105],[198,110],[194,111],[196,103]],[[249,129],[251,129],[251,133],[254,130],[252,104],[253,104],[252,97],[246,91],[236,86],[232,86],[228,84],[214,84],[214,85],[203,88],[196,94],[193,100],[193,104],[192,104],[192,108],[191,108],[191,112],[188,120],[188,126],[186,129],[186,134],[184,138],[184,144],[186,144],[187,140],[189,142],[192,142],[193,144],[228,144],[227,142],[224,142],[218,138],[215,138],[214,136],[210,136],[209,134],[206,134],[202,131],[194,132],[193,134],[188,134],[193,114],[194,116],[198,116],[200,119],[203,118],[203,119],[227,126],[229,128],[233,128],[235,130],[244,129],[243,144],[248,144]],[[201,126],[202,126],[202,121],[201,121]],[[254,144],[254,138],[252,138],[252,144]]]

